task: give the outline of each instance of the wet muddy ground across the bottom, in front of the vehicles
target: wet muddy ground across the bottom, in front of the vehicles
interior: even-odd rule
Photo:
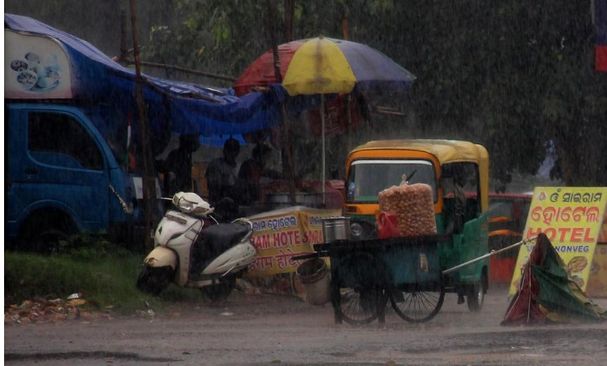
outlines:
[[[158,315],[5,323],[7,365],[587,365],[607,363],[607,323],[504,327],[505,289],[481,313],[447,294],[428,323],[336,325],[330,305],[234,292]],[[604,308],[607,301],[597,301]]]

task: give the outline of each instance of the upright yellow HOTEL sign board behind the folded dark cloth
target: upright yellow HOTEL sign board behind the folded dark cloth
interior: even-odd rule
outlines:
[[[538,187],[533,191],[523,239],[546,234],[569,276],[585,290],[606,203],[607,187]],[[518,289],[532,249],[532,245],[523,245],[519,250],[510,295]]]

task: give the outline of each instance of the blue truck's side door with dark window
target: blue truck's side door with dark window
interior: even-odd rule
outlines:
[[[15,216],[52,208],[67,213],[78,229],[107,228],[107,161],[88,119],[74,110],[17,109],[11,128],[9,199]]]

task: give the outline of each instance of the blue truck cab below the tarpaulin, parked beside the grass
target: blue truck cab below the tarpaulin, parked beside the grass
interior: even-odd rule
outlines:
[[[84,110],[5,103],[5,230],[34,249],[76,232],[142,238],[140,177],[129,175]]]

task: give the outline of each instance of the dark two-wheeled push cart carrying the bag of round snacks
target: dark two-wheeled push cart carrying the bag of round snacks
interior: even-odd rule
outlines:
[[[336,240],[296,259],[329,257],[336,323],[383,323],[388,301],[404,320],[424,322],[440,311],[445,297],[438,246],[446,241],[436,235]]]

